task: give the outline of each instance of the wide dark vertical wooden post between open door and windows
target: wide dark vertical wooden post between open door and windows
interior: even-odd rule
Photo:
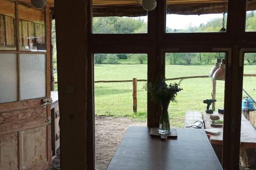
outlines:
[[[92,57],[88,52],[90,1],[58,0],[55,2],[58,98],[60,116],[60,165],[66,169],[93,169],[94,155],[88,158],[88,141],[94,150]],[[67,12],[72,11],[72,12]],[[64,29],[65,28],[65,29]],[[76,43],[71,43],[76,42]],[[73,56],[71,59],[70,56]],[[91,83],[91,84],[90,84]],[[91,122],[91,121],[90,121]],[[90,168],[92,165],[93,168]]]

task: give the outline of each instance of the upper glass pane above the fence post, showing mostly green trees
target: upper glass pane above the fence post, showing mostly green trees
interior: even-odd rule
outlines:
[[[147,12],[139,1],[93,0],[93,33],[147,33]]]

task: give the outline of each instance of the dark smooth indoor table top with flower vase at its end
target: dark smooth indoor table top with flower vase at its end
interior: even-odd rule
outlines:
[[[150,128],[129,127],[108,170],[219,170],[220,162],[202,129],[177,128],[177,139],[150,136]]]

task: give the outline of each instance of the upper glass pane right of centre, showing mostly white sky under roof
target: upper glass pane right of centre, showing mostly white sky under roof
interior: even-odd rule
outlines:
[[[166,33],[226,32],[227,1],[167,0]]]

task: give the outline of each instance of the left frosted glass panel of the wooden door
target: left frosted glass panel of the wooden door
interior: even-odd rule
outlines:
[[[17,101],[16,54],[0,54],[0,103]]]

